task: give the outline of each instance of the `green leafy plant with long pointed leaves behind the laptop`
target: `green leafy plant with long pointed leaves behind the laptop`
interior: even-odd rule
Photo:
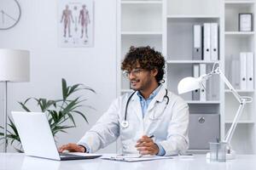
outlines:
[[[94,109],[90,105],[83,105],[86,99],[83,99],[83,96],[75,97],[72,99],[73,94],[76,94],[81,91],[90,91],[96,93],[92,88],[84,86],[84,84],[74,84],[73,86],[67,86],[67,82],[64,78],[61,80],[62,83],[62,99],[42,99],[42,98],[28,98],[24,102],[19,102],[21,107],[28,112],[31,110],[28,108],[27,103],[29,101],[34,101],[39,106],[40,110],[47,114],[49,126],[53,136],[55,137],[57,133],[67,133],[68,128],[76,127],[74,120],[74,115],[82,116],[83,120],[88,123],[84,111],[80,111],[79,108],[82,106]],[[65,125],[64,122],[71,121],[71,125]],[[67,123],[66,123],[67,124]],[[7,142],[8,144],[17,143],[15,150],[18,152],[23,152],[22,145],[20,143],[19,133],[15,127],[15,123],[9,117],[8,127],[11,130],[7,132]],[[0,126],[3,129],[3,127]],[[0,136],[3,136],[3,133],[0,133]],[[0,138],[4,140],[4,138]]]

